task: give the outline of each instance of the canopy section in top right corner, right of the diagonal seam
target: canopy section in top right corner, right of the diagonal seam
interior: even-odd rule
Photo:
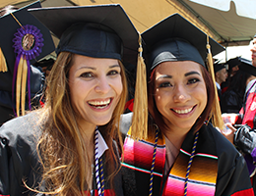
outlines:
[[[248,45],[256,32],[256,0],[178,0],[224,46]]]

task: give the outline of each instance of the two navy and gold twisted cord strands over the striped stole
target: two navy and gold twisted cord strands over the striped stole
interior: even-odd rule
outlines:
[[[149,196],[153,195],[153,172],[155,169],[155,163],[156,163],[156,155],[157,155],[157,146],[158,146],[158,140],[159,140],[159,132],[160,129],[156,129],[156,136],[155,136],[155,144],[154,144],[154,153],[153,153],[153,160],[152,160],[152,168],[151,168],[151,176],[150,176],[150,193]],[[195,157],[195,152],[196,152],[196,146],[197,146],[197,141],[198,141],[198,135],[199,135],[199,130],[196,132],[196,136],[194,139],[193,147],[192,147],[192,152],[189,158],[188,166],[187,166],[187,172],[185,176],[185,182],[184,182],[184,196],[187,196],[187,184],[188,184],[188,177],[189,177],[189,172],[191,169],[191,165],[193,162],[193,159]]]

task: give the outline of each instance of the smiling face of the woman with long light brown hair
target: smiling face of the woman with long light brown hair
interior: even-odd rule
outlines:
[[[72,107],[80,125],[108,123],[123,90],[117,60],[74,55],[69,72]]]

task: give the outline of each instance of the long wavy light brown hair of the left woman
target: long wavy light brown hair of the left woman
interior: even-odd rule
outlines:
[[[41,109],[42,135],[37,144],[37,152],[41,161],[42,181],[45,192],[58,195],[84,195],[89,190],[86,176],[92,174],[87,156],[86,143],[76,122],[76,113],[71,106],[68,73],[72,67],[74,54],[61,52],[48,76],[45,106]],[[108,145],[106,157],[114,164],[107,165],[111,187],[113,176],[120,168],[116,158],[116,150],[112,139],[122,145],[119,133],[120,116],[123,113],[127,82],[124,68],[121,67],[123,91],[113,112],[112,119],[105,126],[102,135]],[[86,155],[86,156],[85,156]]]

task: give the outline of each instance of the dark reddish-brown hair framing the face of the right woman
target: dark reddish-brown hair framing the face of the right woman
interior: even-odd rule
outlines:
[[[160,128],[166,128],[167,125],[164,123],[162,119],[162,115],[160,114],[160,111],[157,108],[156,100],[155,100],[155,81],[156,81],[156,69],[157,67],[151,72],[148,82],[148,102],[149,102],[149,113],[154,119],[154,122],[157,123]],[[206,70],[205,67],[200,66],[204,81],[206,83],[206,89],[207,89],[207,105],[201,116],[198,118],[197,122],[193,125],[194,130],[198,130],[201,128],[203,123],[209,118],[209,114],[211,112],[211,108],[213,106],[214,102],[214,93],[215,93],[215,86],[214,82],[212,80],[212,77],[210,73]],[[150,122],[152,123],[152,122]],[[153,127],[149,125],[149,127]],[[154,131],[152,128],[149,128],[149,134],[152,134],[152,131]]]

